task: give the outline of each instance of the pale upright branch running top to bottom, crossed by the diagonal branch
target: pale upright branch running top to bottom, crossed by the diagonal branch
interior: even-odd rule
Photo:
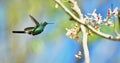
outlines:
[[[73,4],[72,9],[79,15],[79,19],[85,23],[85,21],[83,20],[83,14],[81,13],[81,10],[77,4],[77,1],[69,0],[69,2]],[[84,25],[81,25],[80,27],[81,27],[81,31],[83,33],[82,47],[84,50],[85,63],[90,63],[89,50],[88,50],[88,45],[87,45],[86,27]]]

